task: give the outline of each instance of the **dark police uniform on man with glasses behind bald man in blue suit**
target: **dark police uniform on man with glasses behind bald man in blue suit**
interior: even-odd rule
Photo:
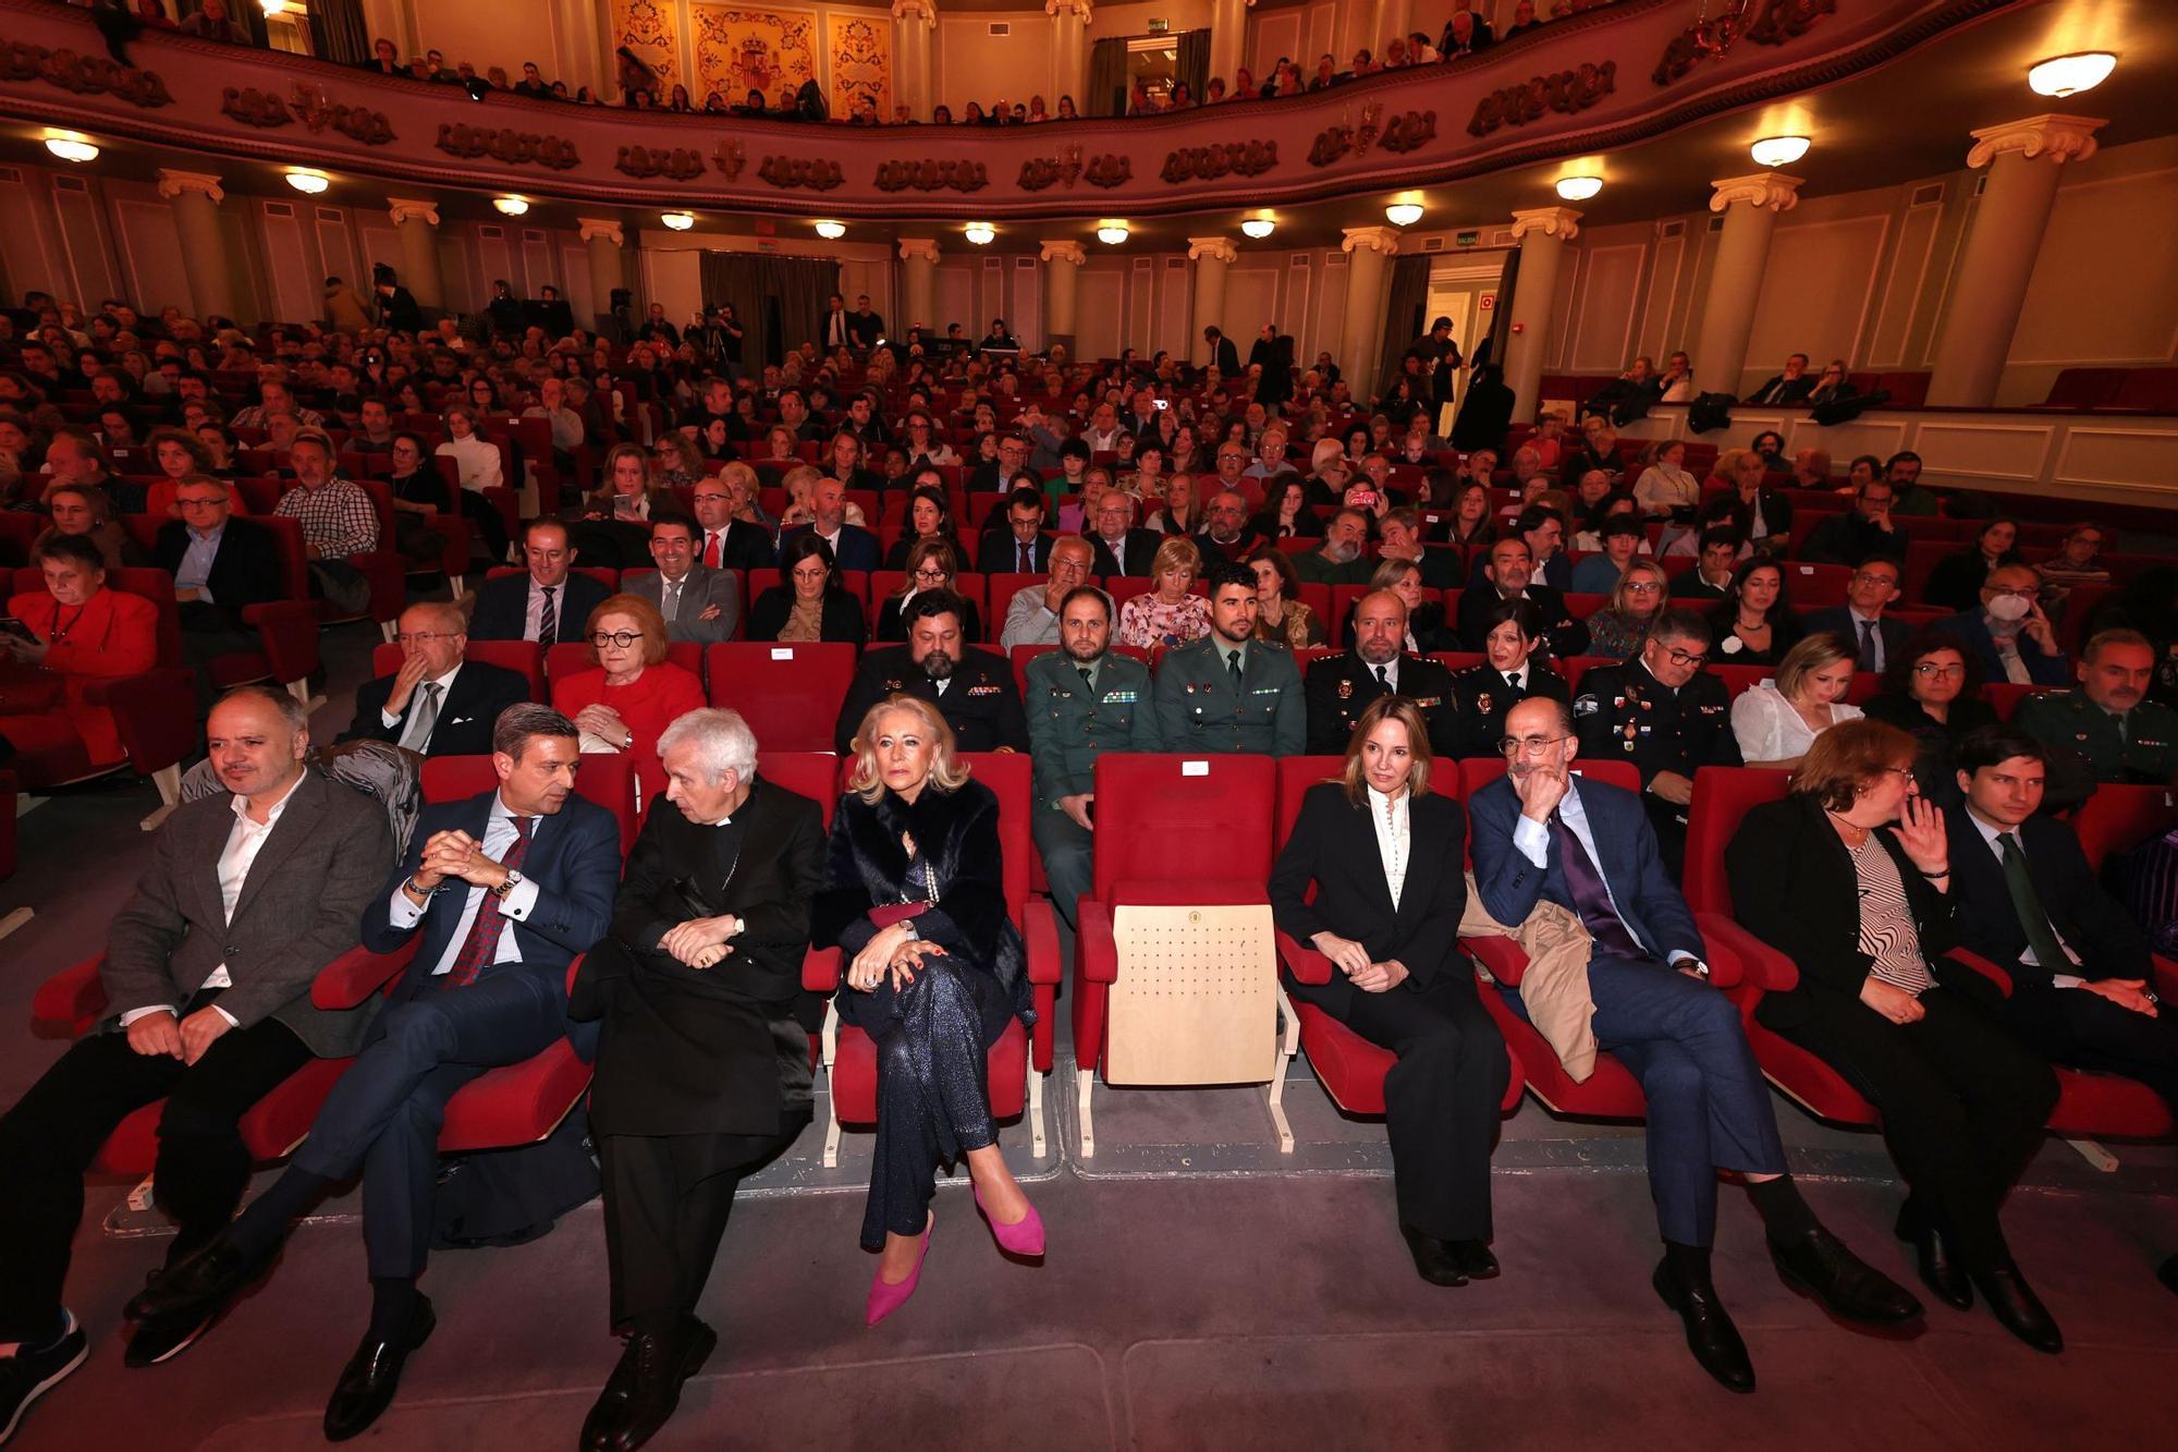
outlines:
[[[1590,761],[1629,761],[1640,772],[1640,800],[1655,826],[1664,868],[1677,881],[1686,861],[1686,807],[1647,787],[1657,772],[1692,781],[1705,765],[1745,765],[1740,739],[1732,735],[1732,691],[1710,674],[1697,674],[1673,691],[1640,661],[1599,665],[1581,676],[1573,730]]]

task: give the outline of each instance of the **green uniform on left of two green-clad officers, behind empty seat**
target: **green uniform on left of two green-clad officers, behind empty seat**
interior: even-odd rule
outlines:
[[[1059,809],[1061,796],[1096,789],[1096,759],[1104,752],[1161,750],[1157,704],[1150,700],[1150,667],[1119,652],[1089,667],[1063,650],[1048,650],[1028,663],[1028,741],[1037,767],[1037,809],[1028,818],[1052,881],[1059,909],[1059,955],[1074,961],[1074,903],[1089,892],[1096,837]]]

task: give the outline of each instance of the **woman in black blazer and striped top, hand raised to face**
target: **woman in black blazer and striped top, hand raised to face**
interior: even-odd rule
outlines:
[[[2056,1075],[1997,1027],[1995,985],[1943,961],[1958,942],[1943,811],[1912,781],[1914,739],[1845,722],[1792,794],[1747,813],[1725,852],[1738,920],[1799,968],[1755,1018],[1836,1068],[1884,1116],[1906,1177],[1897,1234],[1921,1280],[2041,1352],[2065,1336],[2028,1288],[1997,1208],[2034,1158]]]

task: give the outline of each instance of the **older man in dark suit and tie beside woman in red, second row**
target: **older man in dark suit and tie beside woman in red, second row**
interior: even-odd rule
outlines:
[[[396,630],[401,669],[355,689],[355,719],[340,739],[392,741],[425,757],[490,754],[499,713],[529,700],[529,680],[466,658],[460,606],[414,604]]]

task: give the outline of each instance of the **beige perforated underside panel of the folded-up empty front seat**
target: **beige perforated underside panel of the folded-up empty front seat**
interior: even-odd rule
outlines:
[[[1106,1084],[1265,1084],[1278,1060],[1268,903],[1111,909]]]

